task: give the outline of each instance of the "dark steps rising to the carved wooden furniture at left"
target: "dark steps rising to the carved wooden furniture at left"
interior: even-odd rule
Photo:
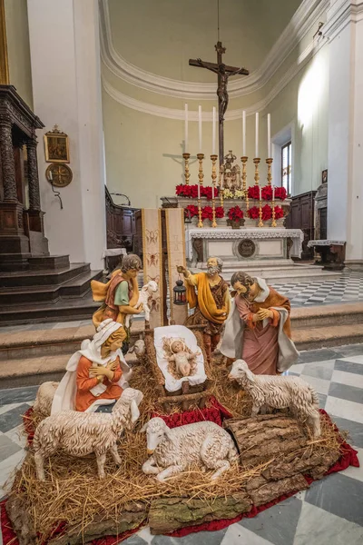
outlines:
[[[29,322],[86,320],[100,306],[90,282],[102,277],[89,263],[68,255],[29,257],[25,271],[0,272],[0,326]]]

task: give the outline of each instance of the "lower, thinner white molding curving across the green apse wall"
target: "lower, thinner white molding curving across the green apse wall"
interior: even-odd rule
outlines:
[[[260,100],[258,103],[252,104],[249,107],[244,108],[247,115],[253,115],[255,112],[260,112],[267,108],[267,106],[270,104],[270,102],[273,101],[273,99],[282,91],[282,89],[289,84],[289,82],[292,80],[293,77],[295,77],[296,74],[299,74],[299,71],[309,63],[309,60],[317,54],[320,49],[327,44],[327,41],[324,39],[319,40],[318,45],[313,45],[312,43],[303,51],[297,60],[296,64],[293,64],[289,67],[289,70],[282,76],[282,78],[279,80],[279,82],[272,87],[270,90],[270,93],[262,100]],[[132,98],[131,96],[122,93],[118,89],[115,89],[112,84],[110,84],[107,79],[104,77],[102,78],[103,81],[103,89],[104,91],[113,98],[116,102],[119,104],[123,104],[123,106],[126,106],[128,108],[131,108],[132,110],[136,110],[137,112],[142,112],[143,114],[151,114],[156,115],[157,117],[164,117],[166,119],[176,119],[179,121],[184,120],[184,109],[178,109],[178,108],[166,108],[164,106],[158,106],[155,104],[149,104],[142,102],[140,100],[137,100],[135,98]],[[198,111],[191,109],[189,110],[189,120],[190,121],[198,121]],[[229,110],[226,114],[226,121],[233,121],[236,119],[242,118],[242,108],[238,108],[235,110]],[[203,121],[212,121],[212,113],[210,112],[202,112],[202,120]]]

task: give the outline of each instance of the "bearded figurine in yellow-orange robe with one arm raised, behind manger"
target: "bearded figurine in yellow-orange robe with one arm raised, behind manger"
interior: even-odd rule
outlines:
[[[204,325],[204,346],[209,362],[221,340],[221,329],[230,311],[230,291],[220,274],[222,266],[221,258],[210,257],[207,272],[191,274],[184,267],[178,267],[185,278],[189,306],[195,309],[185,325]]]

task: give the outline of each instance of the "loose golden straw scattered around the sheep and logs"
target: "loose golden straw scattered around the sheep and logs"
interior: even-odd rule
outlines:
[[[249,415],[250,400],[240,391],[234,390],[227,381],[227,370],[215,367],[212,394],[234,417]],[[191,468],[182,476],[167,484],[156,482],[142,473],[142,463],[147,459],[145,436],[140,433],[142,423],[149,419],[152,411],[161,411],[157,402],[155,382],[143,366],[135,367],[132,387],[144,393],[141,405],[142,417],[134,431],[126,431],[119,446],[123,465],[117,468],[107,457],[106,478],[97,477],[94,456],[87,459],[71,458],[59,454],[45,462],[46,481],[36,480],[34,457],[29,453],[22,468],[17,472],[11,495],[21,500],[24,509],[31,514],[34,529],[39,532],[39,542],[49,539],[54,525],[60,519],[67,526],[80,525],[86,528],[102,515],[103,520],[117,519],[123,506],[132,500],[150,504],[157,497],[184,496],[212,501],[215,497],[227,496],[240,490],[252,477],[260,475],[269,460],[253,468],[235,466],[224,473],[220,480],[210,481],[210,473]],[[34,414],[34,421],[39,415]],[[337,434],[325,419],[321,421],[322,434],[319,440],[310,441],[310,451],[338,451]]]

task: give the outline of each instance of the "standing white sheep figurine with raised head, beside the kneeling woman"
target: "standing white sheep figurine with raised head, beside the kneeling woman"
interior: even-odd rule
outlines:
[[[103,412],[59,411],[41,421],[34,433],[34,460],[39,481],[45,481],[44,458],[56,451],[83,457],[94,452],[98,476],[104,478],[106,453],[111,451],[121,463],[116,442],[123,428],[130,429],[140,416],[142,392],[126,388],[111,414]]]

